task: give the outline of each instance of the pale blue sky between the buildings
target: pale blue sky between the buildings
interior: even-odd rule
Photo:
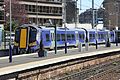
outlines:
[[[95,9],[100,8],[103,1],[104,0],[94,0],[94,8]],[[80,7],[80,0],[78,0],[78,2],[77,2],[77,7],[78,8]],[[92,8],[92,0],[81,0],[81,9],[82,10],[80,10],[80,13],[84,12],[86,9],[89,9],[89,8]]]

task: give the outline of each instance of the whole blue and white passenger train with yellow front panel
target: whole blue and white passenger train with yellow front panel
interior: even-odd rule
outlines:
[[[109,30],[87,30],[84,28],[60,28],[41,27],[31,24],[24,24],[15,29],[14,53],[32,53],[40,48],[40,42],[46,49],[55,48],[55,37],[57,47],[64,47],[65,41],[68,47],[77,47],[79,43],[100,44],[109,41],[120,42],[120,31]]]

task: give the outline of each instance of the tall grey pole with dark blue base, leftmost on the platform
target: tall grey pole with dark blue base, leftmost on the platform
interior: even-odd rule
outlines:
[[[9,41],[9,62],[12,62],[12,47],[11,47],[11,31],[12,31],[12,11],[11,11],[11,0],[10,0],[10,41]]]

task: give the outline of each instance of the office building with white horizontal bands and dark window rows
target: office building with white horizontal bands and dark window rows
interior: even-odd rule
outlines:
[[[20,0],[20,4],[25,5],[30,23],[62,24],[62,0]]]

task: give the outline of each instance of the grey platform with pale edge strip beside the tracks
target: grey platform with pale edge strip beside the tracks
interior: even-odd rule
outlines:
[[[57,54],[54,54],[54,51],[50,51],[47,57],[42,58],[39,58],[37,53],[17,55],[13,56],[12,63],[9,63],[8,57],[2,57],[0,58],[0,76],[70,59],[107,54],[116,51],[120,51],[120,46],[112,44],[111,47],[105,47],[105,45],[98,46],[97,50],[95,46],[90,46],[89,51],[85,51],[83,48],[82,52],[78,52],[78,48],[69,49],[67,54],[64,54],[64,50],[59,50]]]

